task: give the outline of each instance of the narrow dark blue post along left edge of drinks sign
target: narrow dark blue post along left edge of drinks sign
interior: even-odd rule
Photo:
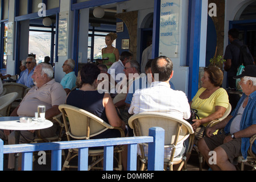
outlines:
[[[152,58],[159,56],[160,4],[161,4],[160,0],[155,0],[153,35],[152,35]]]

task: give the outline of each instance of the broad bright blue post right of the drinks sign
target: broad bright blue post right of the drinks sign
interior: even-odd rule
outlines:
[[[189,24],[188,36],[188,55],[189,63],[189,82],[188,82],[188,101],[196,95],[199,83],[199,60],[200,60],[200,35],[201,35],[201,10],[203,0],[189,0],[189,14],[191,23]]]

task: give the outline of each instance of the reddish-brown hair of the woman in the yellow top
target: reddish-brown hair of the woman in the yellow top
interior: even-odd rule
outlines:
[[[223,72],[217,67],[204,68],[204,71],[209,74],[209,80],[214,86],[221,86],[223,81]]]

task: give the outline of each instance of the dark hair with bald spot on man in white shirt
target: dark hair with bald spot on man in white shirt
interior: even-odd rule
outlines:
[[[164,64],[160,63],[161,60],[164,60]],[[166,56],[156,57],[151,63],[152,77],[155,78],[155,74],[158,74],[158,81],[167,81],[172,74],[173,67],[174,64],[170,58]]]

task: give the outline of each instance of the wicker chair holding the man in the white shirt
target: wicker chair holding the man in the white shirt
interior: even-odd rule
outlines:
[[[193,134],[192,126],[184,119],[172,117],[166,113],[139,113],[129,118],[129,126],[134,131],[135,137],[147,136],[148,129],[151,127],[162,127],[165,130],[164,147],[171,147],[170,158],[164,158],[165,168],[169,166],[169,170],[173,170],[174,164],[179,164],[179,169],[182,167],[187,169],[185,156],[179,156],[174,158],[177,144],[183,143],[189,135]],[[192,135],[193,136],[193,135]],[[189,138],[191,140],[192,137]],[[191,144],[191,142],[189,142]],[[145,155],[144,147],[146,143],[139,144],[140,154],[139,159],[141,160],[141,171],[146,167],[147,155]]]

